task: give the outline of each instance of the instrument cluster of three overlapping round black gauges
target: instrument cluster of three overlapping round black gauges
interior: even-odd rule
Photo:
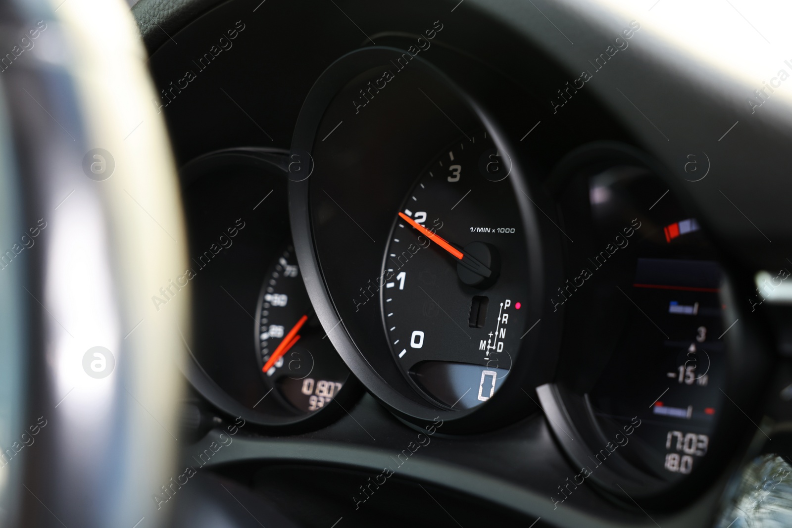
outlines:
[[[272,434],[332,423],[363,388],[447,435],[543,413],[578,485],[648,505],[700,488],[729,454],[736,370],[750,378],[706,226],[635,146],[563,123],[543,127],[552,146],[523,142],[533,128],[499,119],[519,86],[402,59],[333,63],[291,150],[183,169],[192,385]]]

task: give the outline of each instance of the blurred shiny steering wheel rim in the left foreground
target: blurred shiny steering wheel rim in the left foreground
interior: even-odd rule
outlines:
[[[164,525],[189,299],[146,53],[119,0],[0,21],[0,526]]]

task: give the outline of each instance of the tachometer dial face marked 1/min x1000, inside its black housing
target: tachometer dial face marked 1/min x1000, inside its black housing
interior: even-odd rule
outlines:
[[[466,135],[394,214],[380,281],[386,336],[413,386],[444,408],[489,400],[527,330],[527,251],[510,169],[485,132]]]

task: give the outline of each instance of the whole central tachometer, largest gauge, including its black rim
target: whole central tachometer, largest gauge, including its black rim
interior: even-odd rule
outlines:
[[[348,104],[401,56],[361,48],[314,83],[291,142],[295,251],[328,339],[375,398],[414,424],[485,431],[535,412],[531,388],[555,367],[560,327],[541,299],[562,233],[542,156],[490,114],[519,91],[495,72],[466,66],[457,85],[419,58]],[[488,108],[466,91],[495,86]]]

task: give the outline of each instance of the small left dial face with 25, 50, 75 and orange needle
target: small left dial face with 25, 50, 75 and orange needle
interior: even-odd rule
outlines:
[[[341,390],[348,370],[311,308],[291,245],[267,271],[253,331],[261,376],[287,408],[314,412]]]

